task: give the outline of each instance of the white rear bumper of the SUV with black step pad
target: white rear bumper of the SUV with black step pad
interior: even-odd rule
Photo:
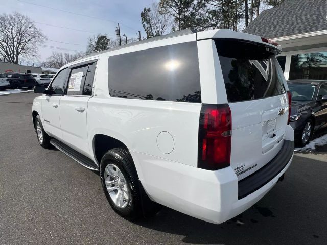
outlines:
[[[245,186],[243,183],[249,185],[249,182],[244,180],[240,184],[231,167],[210,171],[142,153],[131,151],[131,154],[139,180],[152,201],[220,224],[254,205],[277,183],[293,159],[294,143],[288,140],[285,143],[288,147],[282,148],[276,159],[266,164],[267,167],[262,167],[266,170],[262,170],[260,176],[253,174],[254,177],[246,178],[252,179],[246,190],[250,193],[242,196],[239,191]],[[287,158],[283,157],[285,154]],[[277,168],[274,163],[278,163]],[[262,175],[265,178],[261,178]]]

